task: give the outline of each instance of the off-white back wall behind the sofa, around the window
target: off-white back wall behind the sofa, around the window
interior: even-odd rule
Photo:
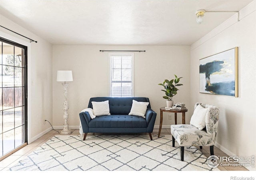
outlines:
[[[70,128],[78,128],[79,113],[87,108],[89,99],[108,96],[108,52],[100,50],[146,50],[134,52],[134,96],[148,97],[152,109],[156,111],[155,126],[159,127],[160,107],[166,106],[162,98],[162,83],[173,79],[174,74],[182,76],[175,102],[190,104],[190,46],[53,46],[53,125],[63,128],[62,104],[64,102],[61,82],[56,82],[57,70],[72,70],[73,82],[68,85]],[[174,120],[167,119],[164,113],[163,128],[170,128]],[[173,114],[174,119],[174,114]],[[181,116],[178,116],[181,123]]]

